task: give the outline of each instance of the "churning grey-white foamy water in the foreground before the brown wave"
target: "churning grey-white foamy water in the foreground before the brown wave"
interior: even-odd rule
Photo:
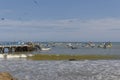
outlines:
[[[30,61],[0,60],[0,72],[19,80],[119,80],[120,60]]]

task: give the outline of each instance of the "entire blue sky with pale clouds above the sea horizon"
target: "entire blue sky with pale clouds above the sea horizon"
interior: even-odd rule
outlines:
[[[0,41],[120,41],[120,0],[0,0]]]

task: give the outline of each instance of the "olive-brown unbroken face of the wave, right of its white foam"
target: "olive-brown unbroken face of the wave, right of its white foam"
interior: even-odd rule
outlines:
[[[120,59],[120,55],[68,55],[68,54],[35,54],[27,57],[30,60],[114,60]]]

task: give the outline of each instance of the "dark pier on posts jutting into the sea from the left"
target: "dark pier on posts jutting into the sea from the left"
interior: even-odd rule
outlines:
[[[19,45],[18,44],[0,45],[0,53],[28,52],[28,51],[34,51],[36,48],[40,48],[40,46],[35,45],[33,43],[19,44]]]

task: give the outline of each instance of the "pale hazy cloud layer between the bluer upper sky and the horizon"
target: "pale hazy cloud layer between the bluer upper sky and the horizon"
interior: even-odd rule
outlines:
[[[18,39],[120,40],[120,19],[2,20],[0,31]],[[2,36],[2,34],[0,35]]]

